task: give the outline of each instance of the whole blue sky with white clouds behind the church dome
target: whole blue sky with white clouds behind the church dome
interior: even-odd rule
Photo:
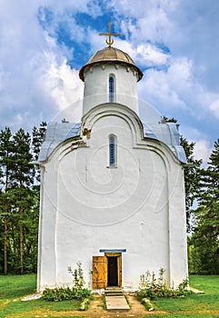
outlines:
[[[218,0],[0,0],[0,129],[65,109],[80,120],[78,72],[111,20],[114,46],[144,72],[139,98],[175,117],[206,161],[219,138],[218,15]]]

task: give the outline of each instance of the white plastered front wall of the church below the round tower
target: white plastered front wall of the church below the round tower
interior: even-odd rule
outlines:
[[[187,276],[183,169],[164,144],[143,140],[138,118],[103,105],[84,118],[85,147],[60,146],[45,164],[38,289],[71,284],[81,261],[90,282],[92,256],[125,249],[123,287],[137,288],[147,269]],[[117,168],[108,168],[108,136],[117,137]]]

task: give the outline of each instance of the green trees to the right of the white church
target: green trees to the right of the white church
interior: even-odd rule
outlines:
[[[174,122],[163,117],[162,123]],[[194,159],[194,143],[183,136],[187,164],[184,169],[185,206],[187,216],[188,256],[190,273],[219,273],[219,139],[207,168],[201,168],[202,160]],[[194,205],[197,207],[194,208]]]

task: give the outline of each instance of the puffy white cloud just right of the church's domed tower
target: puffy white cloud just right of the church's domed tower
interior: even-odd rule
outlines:
[[[194,75],[194,63],[186,57],[169,58],[167,70],[149,69],[138,84],[142,99],[164,115],[174,116],[181,124],[206,125],[210,110],[219,114],[219,95],[208,91]],[[218,118],[218,117],[217,117]],[[214,137],[215,138],[215,137]]]

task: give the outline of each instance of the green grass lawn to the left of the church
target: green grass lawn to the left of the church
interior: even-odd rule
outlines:
[[[78,309],[79,301],[45,302],[42,299],[23,302],[25,295],[35,293],[35,274],[0,275],[0,317],[58,317],[59,312]],[[70,317],[65,315],[65,318]],[[71,315],[73,318],[73,315]],[[76,316],[75,316],[76,318]],[[80,317],[82,318],[82,317]]]

